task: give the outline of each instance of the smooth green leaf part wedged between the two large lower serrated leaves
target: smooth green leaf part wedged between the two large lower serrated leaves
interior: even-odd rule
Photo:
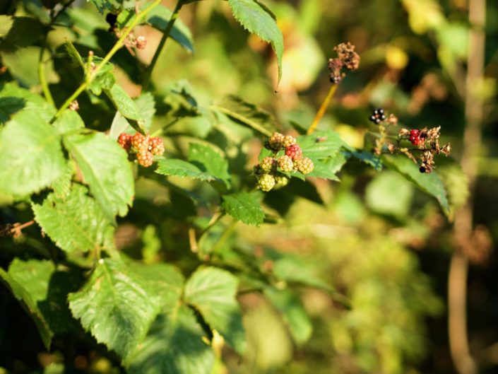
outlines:
[[[141,264],[136,261],[128,262],[128,266],[155,290],[162,312],[171,312],[177,307],[185,281],[179,269],[170,264]]]

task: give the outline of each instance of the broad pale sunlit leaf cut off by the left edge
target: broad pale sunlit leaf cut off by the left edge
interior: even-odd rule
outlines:
[[[0,189],[23,196],[49,187],[66,162],[61,138],[37,112],[16,113],[0,133]]]

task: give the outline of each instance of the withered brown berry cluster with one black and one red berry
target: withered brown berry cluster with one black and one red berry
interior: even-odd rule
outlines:
[[[420,166],[420,173],[431,173],[434,169],[434,156],[440,153],[449,156],[450,144],[439,145],[441,126],[432,129],[401,129],[398,132],[396,144],[389,141],[387,127],[396,126],[398,118],[395,115],[384,115],[382,108],[376,108],[370,115],[369,120],[379,125],[379,137],[375,141],[374,153],[380,155],[384,147],[389,153],[403,153]],[[402,144],[410,141],[415,148],[408,148]]]

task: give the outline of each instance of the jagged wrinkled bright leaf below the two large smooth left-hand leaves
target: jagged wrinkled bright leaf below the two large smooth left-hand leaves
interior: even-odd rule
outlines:
[[[66,252],[114,247],[114,228],[87,192],[75,184],[63,199],[49,194],[42,204],[32,204],[35,221]]]

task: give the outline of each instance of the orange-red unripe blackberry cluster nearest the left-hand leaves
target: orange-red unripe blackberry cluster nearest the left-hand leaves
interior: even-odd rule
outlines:
[[[150,135],[139,132],[134,135],[121,132],[117,142],[129,155],[135,155],[138,163],[145,168],[152,165],[154,156],[162,156],[162,153],[165,153],[165,144],[157,136],[151,138]]]

